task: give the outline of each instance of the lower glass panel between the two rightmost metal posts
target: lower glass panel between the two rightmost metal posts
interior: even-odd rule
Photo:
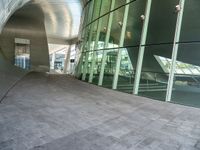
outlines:
[[[139,95],[165,101],[169,74],[156,56],[170,58],[173,45],[146,46]]]

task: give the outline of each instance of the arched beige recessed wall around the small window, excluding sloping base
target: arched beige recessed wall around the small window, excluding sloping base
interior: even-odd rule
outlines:
[[[35,11],[35,16],[24,13],[27,10],[29,12],[30,10]],[[49,52],[44,15],[40,8],[32,5],[24,6],[16,11],[5,25],[0,35],[0,46],[11,64],[14,64],[15,38],[30,40],[31,70],[49,70]]]

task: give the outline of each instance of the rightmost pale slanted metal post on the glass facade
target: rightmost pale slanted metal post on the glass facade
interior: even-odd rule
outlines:
[[[176,22],[176,31],[174,37],[174,44],[173,44],[173,51],[172,51],[172,65],[170,68],[168,86],[167,86],[167,94],[166,94],[166,101],[171,101],[172,96],[172,88],[174,83],[174,74],[176,69],[176,59],[178,55],[178,48],[179,48],[179,39],[182,27],[182,20],[183,20],[183,12],[184,12],[185,0],[180,0],[179,5],[176,6],[178,11],[177,22]]]

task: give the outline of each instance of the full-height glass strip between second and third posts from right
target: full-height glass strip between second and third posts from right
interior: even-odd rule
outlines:
[[[130,3],[129,16],[125,34],[125,47],[122,48],[122,58],[117,89],[123,92],[133,92],[134,68],[138,57],[138,45],[140,44],[143,22],[140,19],[146,8],[146,0]],[[133,47],[136,46],[137,47]],[[131,47],[132,46],[132,47]]]

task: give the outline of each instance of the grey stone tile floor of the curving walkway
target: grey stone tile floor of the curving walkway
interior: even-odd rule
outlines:
[[[31,73],[0,104],[0,150],[200,150],[200,109]]]

